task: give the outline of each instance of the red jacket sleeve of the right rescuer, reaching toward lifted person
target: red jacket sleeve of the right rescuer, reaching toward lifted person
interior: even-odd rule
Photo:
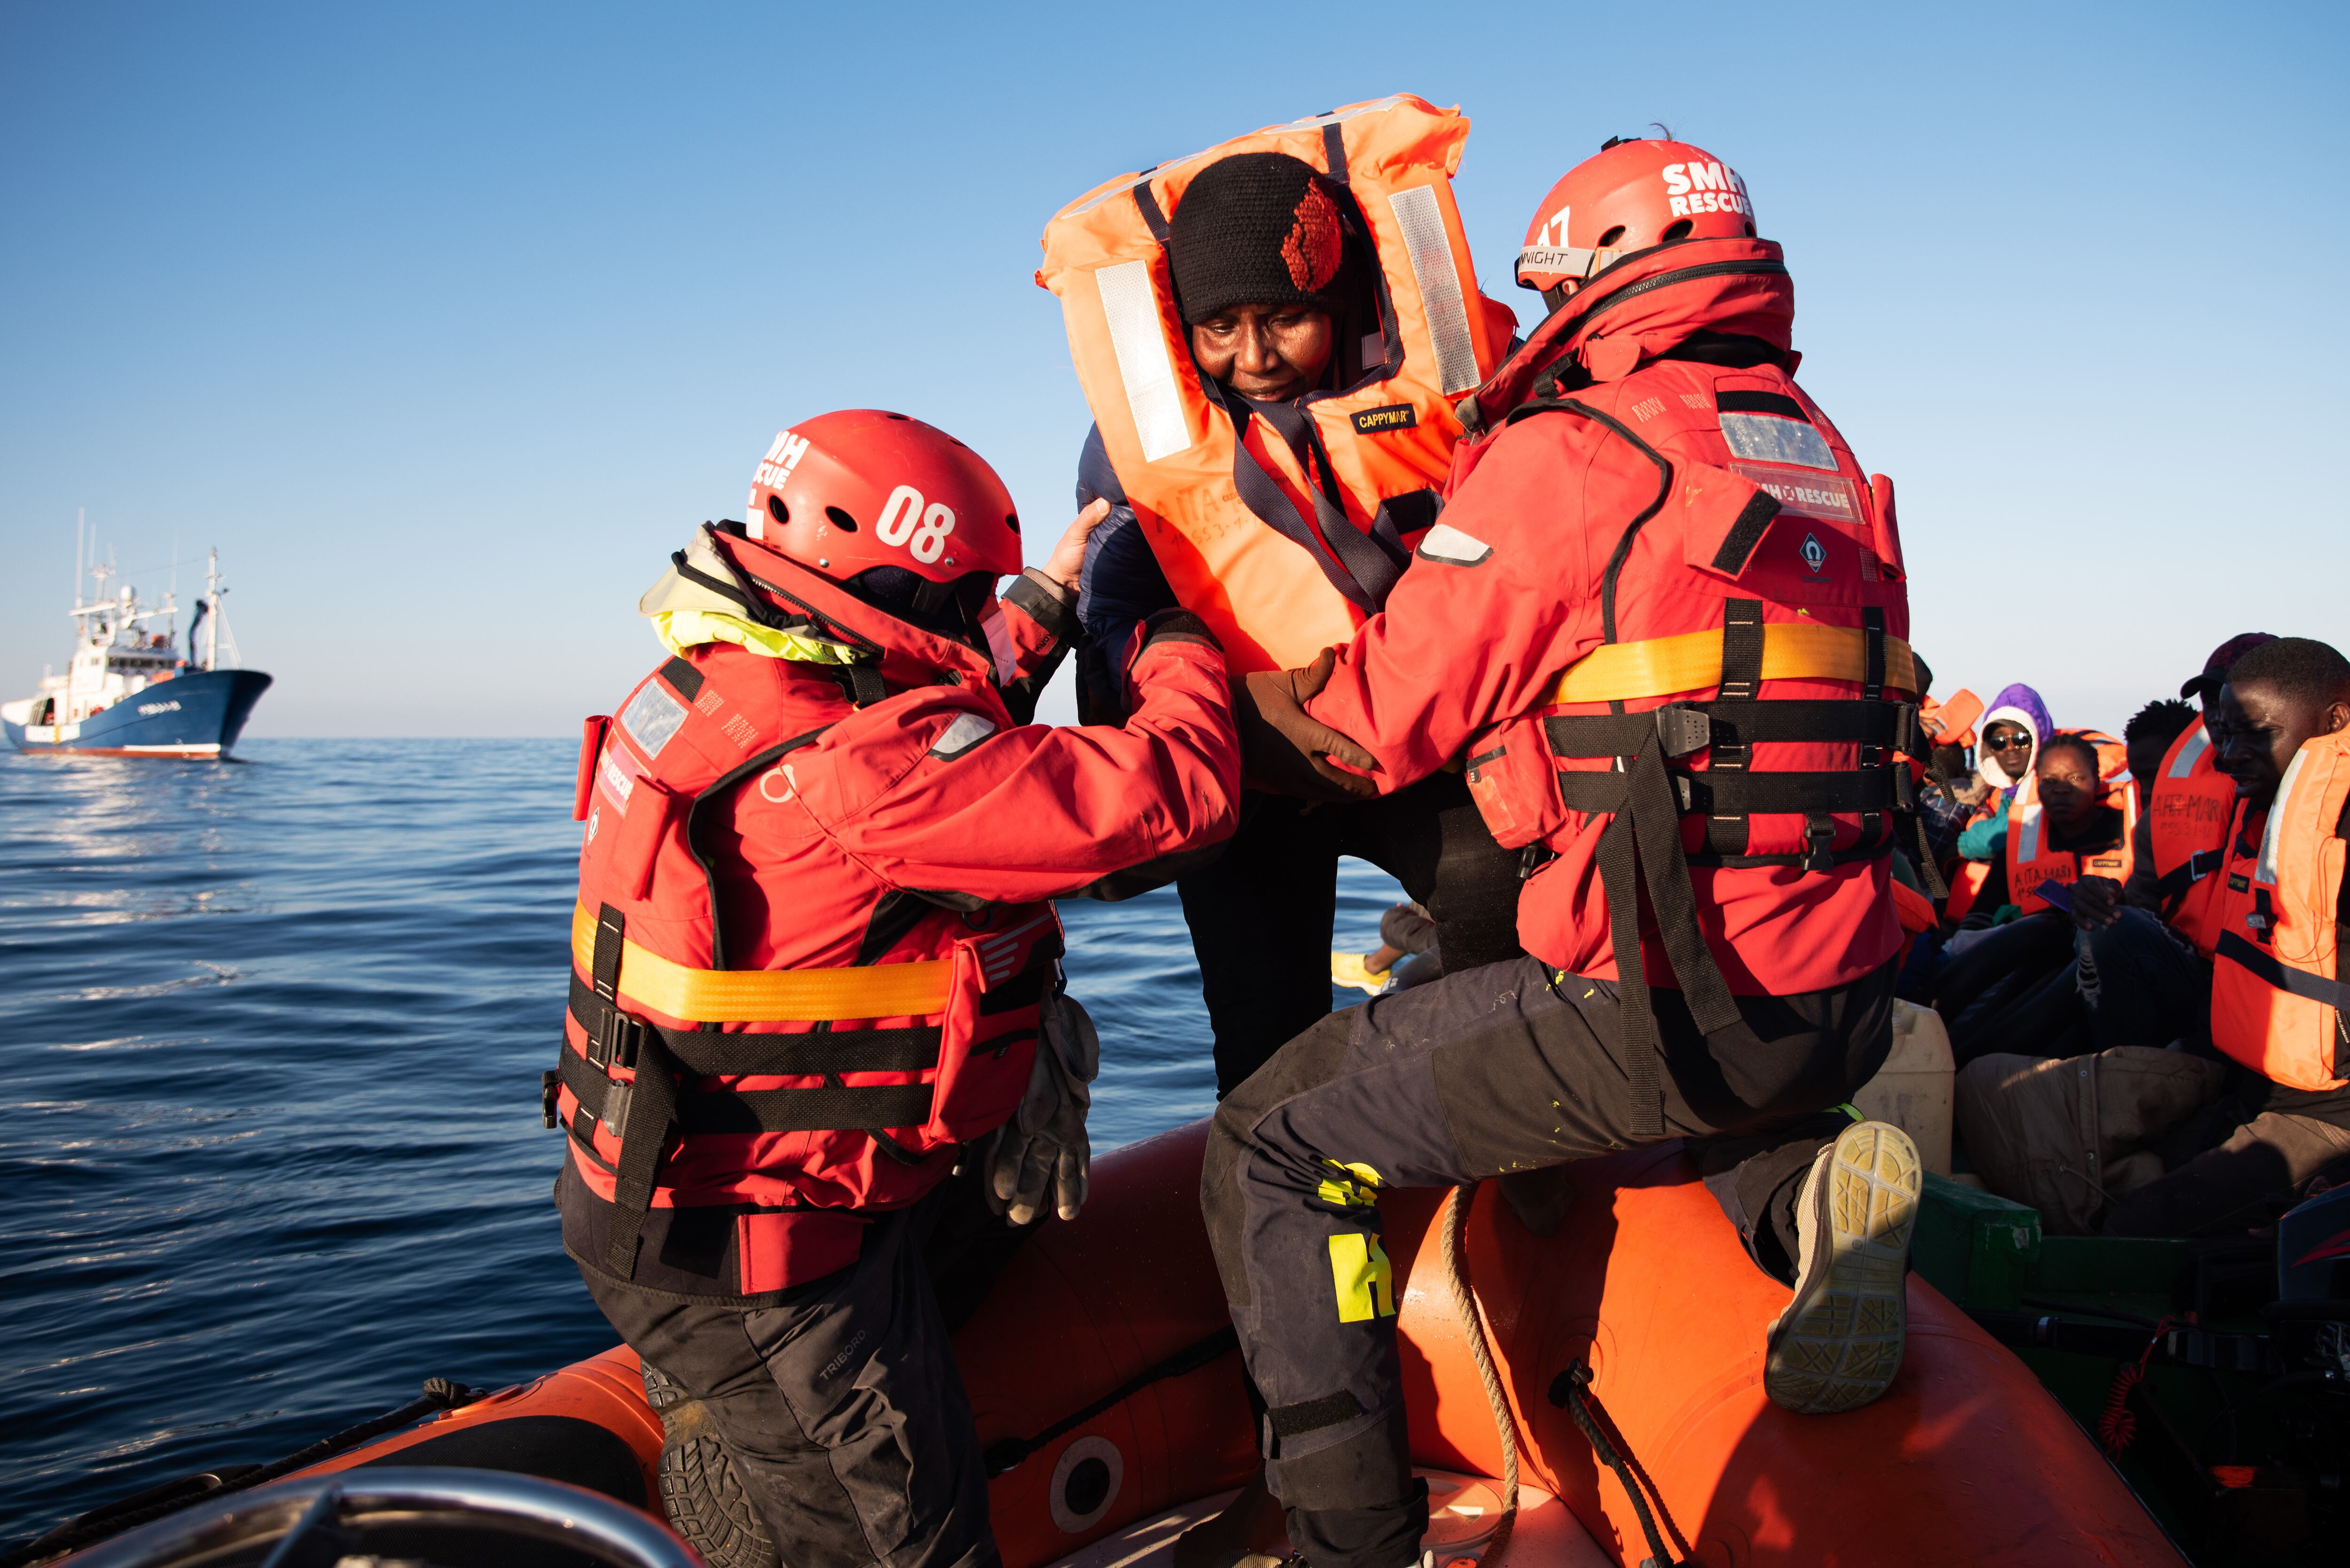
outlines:
[[[1410,569],[1307,712],[1379,764],[1379,788],[1426,778],[1488,724],[1546,701],[1600,642],[1596,583],[1614,538],[1584,529],[1584,470],[1567,421],[1528,421],[1445,503]],[[1596,559],[1593,559],[1596,555]]]

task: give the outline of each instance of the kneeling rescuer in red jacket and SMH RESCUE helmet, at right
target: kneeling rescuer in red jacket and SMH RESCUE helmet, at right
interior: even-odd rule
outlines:
[[[1203,1171],[1314,1568],[1401,1568],[1426,1526],[1389,1187],[1520,1173],[1504,1194],[1537,1199],[1511,1187],[1542,1166],[1704,1140],[1795,1281],[1755,1326],[1770,1396],[1845,1410],[1901,1363],[1918,1154],[1833,1110],[1892,1046],[1887,856],[1925,752],[1892,484],[1795,386],[1786,266],[1711,153],[1610,141],[1518,277],[1551,315],[1476,393],[1441,522],[1304,710],[1382,790],[1466,757],[1502,844],[1556,853],[1518,900],[1528,957],[1321,1020],[1224,1098]]]

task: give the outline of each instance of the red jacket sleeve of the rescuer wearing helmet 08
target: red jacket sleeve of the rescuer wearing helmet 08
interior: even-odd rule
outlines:
[[[1222,654],[1161,642],[1133,679],[1135,715],[1119,729],[999,729],[978,698],[926,691],[891,715],[898,745],[862,748],[872,764],[909,755],[909,766],[879,788],[811,780],[808,813],[891,886],[1003,903],[1231,837],[1241,748]]]

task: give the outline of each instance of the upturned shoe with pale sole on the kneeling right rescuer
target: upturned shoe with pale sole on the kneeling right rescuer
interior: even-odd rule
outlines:
[[[1922,1185],[1918,1145],[1887,1121],[1847,1126],[1812,1161],[1795,1199],[1795,1298],[1765,1340],[1762,1392],[1781,1410],[1854,1410],[1901,1371]]]

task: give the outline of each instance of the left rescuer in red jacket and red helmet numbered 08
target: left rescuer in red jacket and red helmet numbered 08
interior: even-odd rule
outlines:
[[[1013,1222],[1083,1201],[1095,1044],[1050,900],[1231,832],[1189,614],[1128,642],[1123,726],[1025,724],[1100,512],[999,602],[1018,517],[978,454],[811,418],[639,604],[674,656],[590,719],[564,1248],[792,1568],[996,1561],[924,1248],[959,1161]]]

